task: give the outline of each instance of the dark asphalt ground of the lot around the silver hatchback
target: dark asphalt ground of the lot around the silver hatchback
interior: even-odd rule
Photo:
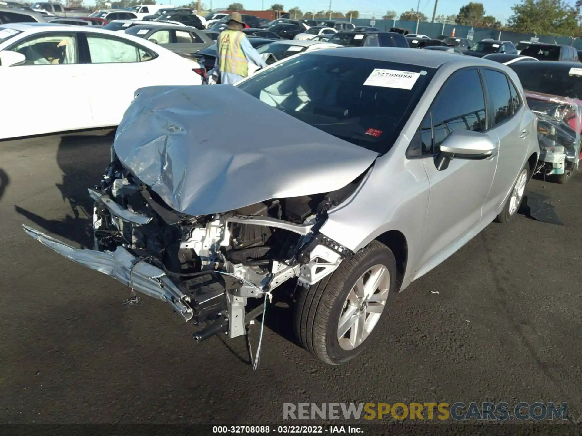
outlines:
[[[393,300],[360,359],[324,366],[281,310],[253,373],[242,338],[198,345],[169,306],[122,305],[125,286],[24,234],[90,244],[86,188],[111,141],[0,142],[0,423],[260,424],[283,402],[554,401],[582,419],[582,174],[530,183],[565,226],[491,224]]]

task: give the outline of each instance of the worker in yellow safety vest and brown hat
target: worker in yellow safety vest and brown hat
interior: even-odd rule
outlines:
[[[265,67],[265,61],[254,49],[246,35],[240,13],[230,14],[228,28],[218,35],[217,56],[214,71],[221,84],[233,85],[249,76],[249,63],[259,68]]]

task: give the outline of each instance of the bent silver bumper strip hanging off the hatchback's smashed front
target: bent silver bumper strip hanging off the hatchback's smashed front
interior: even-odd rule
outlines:
[[[107,274],[135,291],[165,301],[186,321],[191,320],[194,316],[189,305],[190,297],[184,295],[163,270],[144,262],[141,258],[136,258],[121,246],[118,246],[113,252],[73,248],[34,230],[34,228],[23,227],[24,231],[31,237],[65,258]]]

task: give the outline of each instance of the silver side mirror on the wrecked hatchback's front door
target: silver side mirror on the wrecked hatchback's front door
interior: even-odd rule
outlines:
[[[491,158],[498,152],[495,142],[488,135],[473,130],[453,131],[439,147],[435,160],[437,169],[445,169],[449,159],[481,160]]]

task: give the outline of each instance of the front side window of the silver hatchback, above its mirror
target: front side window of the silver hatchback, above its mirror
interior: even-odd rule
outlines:
[[[432,103],[431,113],[435,150],[454,130],[484,131],[485,98],[477,70],[453,74]]]

